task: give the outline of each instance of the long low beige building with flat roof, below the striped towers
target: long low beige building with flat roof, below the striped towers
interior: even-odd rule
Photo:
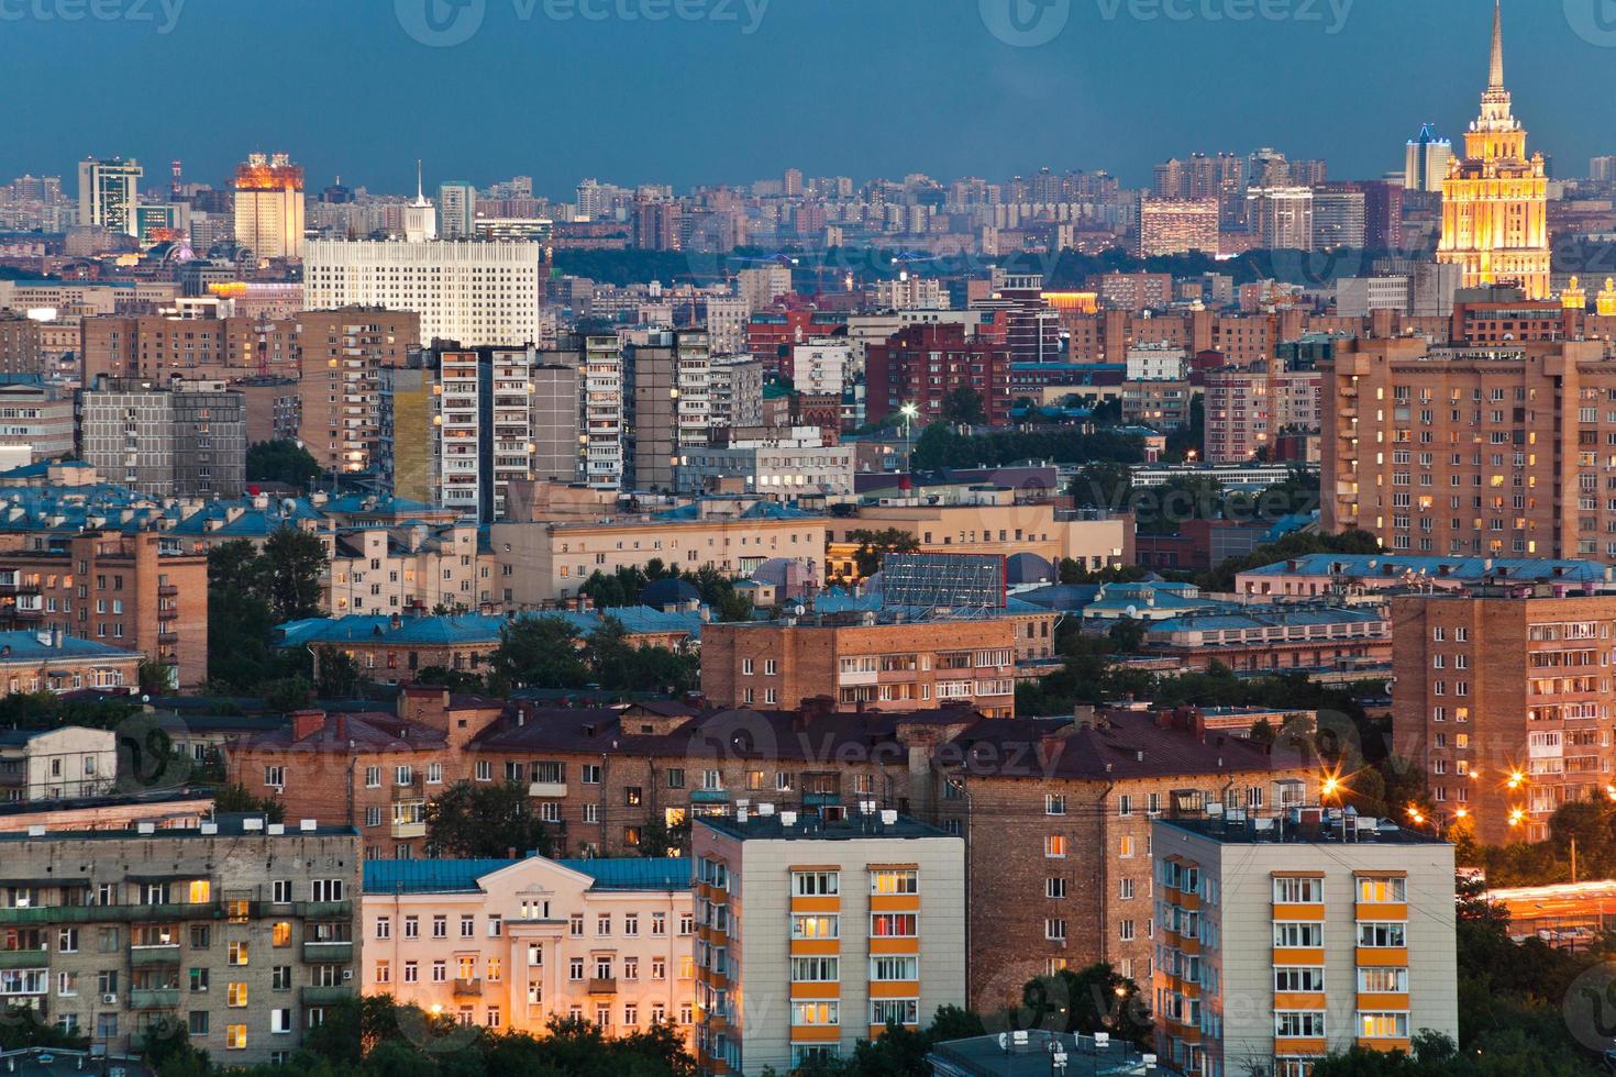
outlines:
[[[671,512],[603,515],[598,522],[496,522],[490,526],[499,564],[494,601],[528,607],[570,599],[596,572],[609,576],[651,560],[685,572],[709,565],[750,576],[763,562],[784,557],[819,576],[827,528],[824,517],[763,505],[755,497],[709,497]]]

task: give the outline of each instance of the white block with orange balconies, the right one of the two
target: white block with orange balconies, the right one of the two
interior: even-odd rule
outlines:
[[[1306,1077],[1354,1046],[1458,1038],[1453,846],[1302,807],[1160,819],[1157,1054],[1176,1072]]]

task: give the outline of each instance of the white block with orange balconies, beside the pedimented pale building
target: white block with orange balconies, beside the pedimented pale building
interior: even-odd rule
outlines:
[[[965,1004],[965,843],[894,811],[698,815],[696,1062],[787,1072]]]

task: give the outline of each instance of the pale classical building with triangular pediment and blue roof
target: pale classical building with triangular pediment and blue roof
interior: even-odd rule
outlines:
[[[360,930],[365,995],[462,1025],[693,1027],[690,861],[367,861]]]

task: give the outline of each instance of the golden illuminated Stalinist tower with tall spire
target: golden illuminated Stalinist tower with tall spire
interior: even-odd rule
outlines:
[[[1548,179],[1543,155],[1526,155],[1526,129],[1504,89],[1503,13],[1493,5],[1493,61],[1482,115],[1464,132],[1441,184],[1437,262],[1464,266],[1464,287],[1514,283],[1548,299]]]

